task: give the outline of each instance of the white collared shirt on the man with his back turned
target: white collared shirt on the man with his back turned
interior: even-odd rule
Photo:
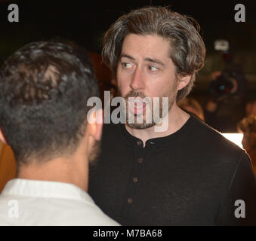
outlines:
[[[0,225],[119,224],[76,185],[15,178],[0,194]]]

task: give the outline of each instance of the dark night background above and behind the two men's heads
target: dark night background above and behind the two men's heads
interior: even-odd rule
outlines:
[[[8,5],[16,3],[20,22],[8,22]],[[236,23],[235,5],[245,5],[245,23]],[[255,1],[0,1],[0,64],[30,41],[60,37],[76,41],[90,52],[100,53],[101,38],[109,25],[131,9],[145,5],[170,5],[173,11],[194,17],[202,28],[207,56],[193,94],[207,95],[211,72],[225,67],[214,40],[230,41],[234,63],[248,79],[248,94],[256,95]]]

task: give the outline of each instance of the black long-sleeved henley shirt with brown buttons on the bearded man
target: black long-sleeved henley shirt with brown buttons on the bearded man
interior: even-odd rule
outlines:
[[[101,148],[89,194],[120,224],[256,225],[251,160],[196,117],[145,147],[124,124],[104,124]]]

